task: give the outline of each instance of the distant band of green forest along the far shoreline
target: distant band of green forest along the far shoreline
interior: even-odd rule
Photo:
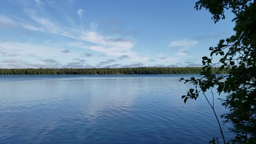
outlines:
[[[202,67],[140,67],[140,68],[13,68],[1,69],[0,75],[10,74],[200,74]],[[212,73],[228,74],[229,68]]]

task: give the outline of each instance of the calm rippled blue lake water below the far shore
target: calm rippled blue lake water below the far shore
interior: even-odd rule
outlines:
[[[0,143],[221,142],[204,96],[186,104],[181,98],[194,87],[178,80],[192,76],[198,75],[0,75]],[[228,111],[215,102],[218,115]]]

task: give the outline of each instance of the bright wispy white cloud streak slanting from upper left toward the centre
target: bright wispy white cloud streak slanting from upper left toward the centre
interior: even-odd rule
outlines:
[[[34,21],[33,23],[21,23],[21,25],[32,31],[40,31],[46,34],[56,34],[68,38],[74,38],[80,41],[80,44],[69,43],[69,46],[76,46],[80,48],[86,48],[97,52],[103,52],[109,56],[120,56],[120,55],[138,55],[136,52],[132,52],[130,49],[133,48],[136,43],[134,40],[129,38],[122,38],[120,36],[104,36],[96,31],[84,30],[76,27],[66,27],[58,24],[51,18],[40,17],[35,11],[25,10],[25,12]],[[97,24],[91,24],[91,29],[95,30]],[[82,42],[90,42],[91,45],[84,45]]]

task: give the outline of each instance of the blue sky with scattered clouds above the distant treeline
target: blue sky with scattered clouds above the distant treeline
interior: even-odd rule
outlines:
[[[0,0],[0,68],[200,67],[235,23],[196,1]]]

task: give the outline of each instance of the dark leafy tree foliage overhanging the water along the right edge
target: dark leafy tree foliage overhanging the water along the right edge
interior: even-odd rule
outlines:
[[[189,90],[182,96],[187,99],[198,98],[200,92],[217,87],[218,94],[228,93],[222,99],[222,105],[230,110],[222,115],[226,122],[232,122],[230,132],[236,137],[232,143],[256,143],[256,4],[255,0],[199,0],[195,8],[206,8],[213,15],[214,22],[224,19],[224,10],[231,9],[236,18],[236,34],[220,40],[216,47],[210,47],[210,58],[202,57],[203,71],[200,79],[185,80],[195,85],[196,90]],[[212,63],[213,56],[220,55],[219,62]],[[214,66],[220,70],[230,69],[228,75],[213,72]],[[180,80],[184,80],[181,78]],[[205,95],[204,95],[205,96]],[[218,120],[218,119],[217,119]],[[224,137],[223,137],[224,139]],[[210,141],[214,143],[214,139]],[[225,143],[225,141],[224,141]]]

